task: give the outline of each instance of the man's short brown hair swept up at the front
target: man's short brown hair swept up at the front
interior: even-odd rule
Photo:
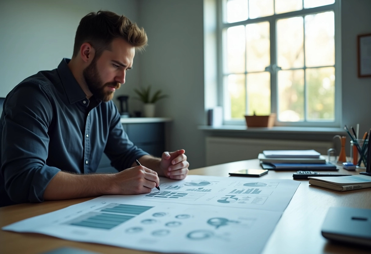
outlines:
[[[77,27],[73,56],[77,56],[82,43],[88,42],[95,49],[95,57],[101,56],[104,50],[110,49],[114,39],[122,38],[136,50],[142,51],[147,45],[147,34],[143,27],[132,23],[124,15],[114,12],[91,12],[83,17]]]

